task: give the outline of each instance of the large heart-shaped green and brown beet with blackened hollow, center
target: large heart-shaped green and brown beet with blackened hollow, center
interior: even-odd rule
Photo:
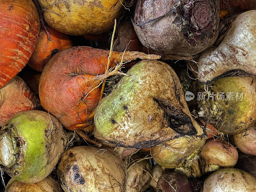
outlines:
[[[180,81],[162,61],[143,60],[103,98],[94,115],[98,132],[121,147],[147,148],[180,135],[202,135]]]

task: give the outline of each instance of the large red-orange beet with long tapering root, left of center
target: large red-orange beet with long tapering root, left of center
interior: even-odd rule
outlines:
[[[108,76],[123,74],[118,71],[122,61],[159,59],[141,52],[113,52],[107,68],[109,51],[92,47],[71,47],[57,53],[46,64],[39,83],[42,106],[69,130],[84,129],[90,125],[93,110],[100,100],[100,83]]]

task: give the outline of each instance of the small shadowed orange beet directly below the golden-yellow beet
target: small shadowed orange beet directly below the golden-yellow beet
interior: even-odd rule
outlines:
[[[66,34],[60,33],[55,29],[48,27],[51,40],[48,40],[45,30],[42,28],[38,33],[38,41],[35,51],[31,55],[28,66],[36,71],[43,71],[45,64],[57,52],[72,47],[72,41]]]

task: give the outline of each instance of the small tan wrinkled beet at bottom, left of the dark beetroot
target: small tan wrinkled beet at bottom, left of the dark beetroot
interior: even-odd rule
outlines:
[[[125,192],[144,192],[151,181],[151,164],[148,160],[136,161],[127,168]]]

